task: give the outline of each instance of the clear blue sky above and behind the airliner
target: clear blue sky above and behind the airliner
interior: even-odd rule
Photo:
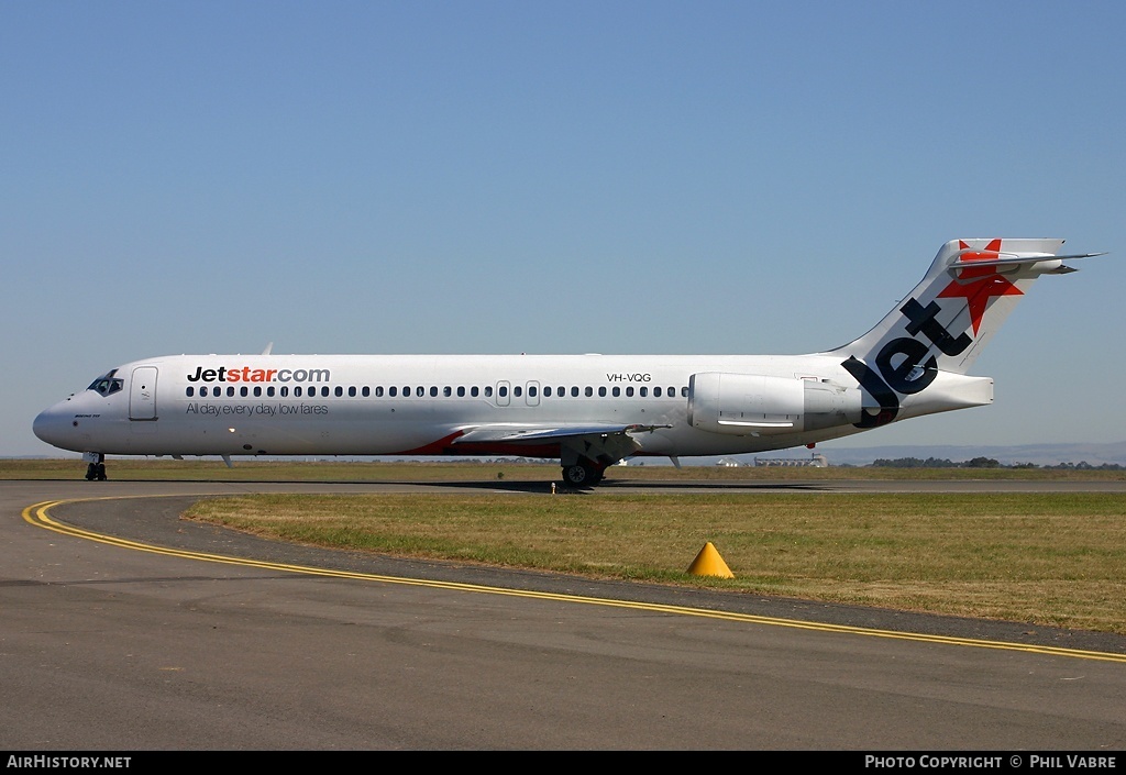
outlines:
[[[0,455],[171,353],[816,351],[981,237],[1111,255],[1017,308],[993,407],[847,444],[1123,440],[1124,35],[1118,2],[0,3]]]

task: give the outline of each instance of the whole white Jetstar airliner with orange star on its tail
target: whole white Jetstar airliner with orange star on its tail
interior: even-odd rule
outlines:
[[[922,282],[848,345],[811,355],[175,355],[136,360],[35,418],[83,453],[522,455],[598,483],[634,455],[813,446],[993,401],[966,374],[1063,240],[953,240]]]

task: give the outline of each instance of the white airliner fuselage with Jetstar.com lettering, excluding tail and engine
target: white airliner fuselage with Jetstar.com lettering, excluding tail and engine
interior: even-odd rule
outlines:
[[[169,356],[115,369],[122,387],[77,393],[35,433],[75,452],[120,455],[558,456],[558,442],[466,440],[479,426],[660,426],[634,436],[645,455],[717,455],[858,433],[851,422],[745,434],[689,424],[692,376],[747,373],[801,381],[852,377],[824,356]],[[785,407],[783,407],[785,409]],[[799,415],[790,412],[761,415]],[[847,419],[842,416],[842,419]]]

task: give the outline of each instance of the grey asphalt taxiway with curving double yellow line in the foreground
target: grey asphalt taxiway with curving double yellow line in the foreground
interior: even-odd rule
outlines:
[[[330,552],[178,519],[203,495],[385,487],[443,486],[0,482],[0,741],[1126,745],[1123,636]]]

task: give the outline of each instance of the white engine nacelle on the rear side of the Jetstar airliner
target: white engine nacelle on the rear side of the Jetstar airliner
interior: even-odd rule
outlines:
[[[729,436],[820,430],[860,421],[861,393],[810,378],[703,372],[688,383],[688,422]]]

